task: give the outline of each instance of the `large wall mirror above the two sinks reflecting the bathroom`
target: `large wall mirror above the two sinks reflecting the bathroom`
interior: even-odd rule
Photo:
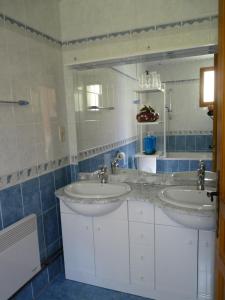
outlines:
[[[200,159],[210,170],[213,123],[199,107],[199,74],[212,65],[213,55],[205,55],[73,70],[81,170],[82,160],[98,155],[97,169],[118,150],[127,154],[124,166],[148,172],[196,170]],[[152,92],[154,74],[165,93]],[[159,117],[143,126],[136,116],[144,106]],[[156,140],[155,149],[145,151],[146,137]]]

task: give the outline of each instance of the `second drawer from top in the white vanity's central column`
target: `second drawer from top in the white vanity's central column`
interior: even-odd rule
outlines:
[[[143,245],[154,245],[154,225],[129,222],[130,241]]]

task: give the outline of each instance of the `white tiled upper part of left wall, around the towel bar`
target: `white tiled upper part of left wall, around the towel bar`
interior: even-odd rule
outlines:
[[[53,0],[0,1],[1,12],[55,36],[57,7]],[[0,99],[30,102],[1,104],[0,175],[68,155],[67,131],[65,142],[58,134],[59,126],[67,128],[61,48],[1,23],[0,65]]]

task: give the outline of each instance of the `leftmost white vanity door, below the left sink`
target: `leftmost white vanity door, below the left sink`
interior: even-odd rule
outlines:
[[[68,279],[95,275],[92,218],[61,214],[65,271]]]

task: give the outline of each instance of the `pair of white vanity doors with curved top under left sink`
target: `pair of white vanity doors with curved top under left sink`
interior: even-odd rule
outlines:
[[[66,278],[114,289],[129,284],[127,202],[94,218],[62,201],[60,208]]]

